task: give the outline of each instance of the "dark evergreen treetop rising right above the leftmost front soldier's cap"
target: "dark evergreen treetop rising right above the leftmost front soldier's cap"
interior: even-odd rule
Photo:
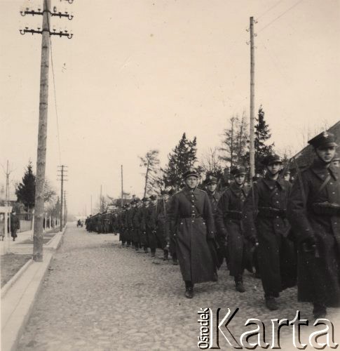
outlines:
[[[177,190],[181,187],[183,173],[196,164],[196,152],[196,137],[188,140],[183,133],[178,145],[168,155],[168,166],[163,170],[165,187],[174,187]]]

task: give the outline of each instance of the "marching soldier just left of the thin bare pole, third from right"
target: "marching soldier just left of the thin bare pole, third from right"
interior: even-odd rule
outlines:
[[[234,182],[231,183],[219,200],[215,223],[217,235],[222,237],[219,241],[226,245],[229,258],[229,272],[235,280],[236,291],[245,292],[243,286],[245,244],[243,237],[242,211],[243,203],[247,197],[245,183],[245,168],[231,169]]]

